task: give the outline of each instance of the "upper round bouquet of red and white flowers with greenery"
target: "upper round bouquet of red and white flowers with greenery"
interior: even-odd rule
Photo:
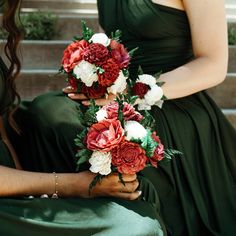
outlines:
[[[60,70],[73,89],[93,99],[126,89],[132,51],[127,52],[120,36],[119,30],[111,38],[94,34],[83,22],[83,36],[65,49]]]

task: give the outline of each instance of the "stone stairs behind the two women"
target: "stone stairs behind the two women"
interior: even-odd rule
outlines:
[[[229,24],[236,27],[236,2],[226,0]],[[60,90],[66,85],[65,76],[58,75],[63,50],[73,36],[81,34],[81,19],[99,31],[95,0],[23,0],[22,12],[50,11],[58,16],[60,37],[52,41],[23,41],[23,70],[18,79],[22,98],[31,99],[47,91]],[[229,47],[229,67],[226,80],[208,90],[236,127],[236,46]]]

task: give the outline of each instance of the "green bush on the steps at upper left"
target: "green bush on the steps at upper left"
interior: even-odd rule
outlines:
[[[57,17],[51,13],[31,12],[21,15],[23,38],[27,40],[51,40],[57,35]],[[7,33],[1,28],[0,38],[5,39]]]

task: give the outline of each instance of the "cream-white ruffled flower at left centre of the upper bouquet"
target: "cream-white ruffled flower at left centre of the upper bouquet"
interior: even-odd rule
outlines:
[[[97,68],[95,65],[82,60],[75,66],[73,73],[77,79],[81,79],[87,87],[91,87],[93,82],[98,81],[98,75],[96,73]]]

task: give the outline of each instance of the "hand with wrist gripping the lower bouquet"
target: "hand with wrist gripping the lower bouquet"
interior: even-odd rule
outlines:
[[[112,173],[101,179],[89,194],[89,185],[96,174],[90,171],[78,173],[80,175],[80,196],[92,197],[117,197],[126,200],[135,200],[141,192],[137,190],[139,182],[136,175],[122,175],[125,185],[121,182],[117,173]]]

